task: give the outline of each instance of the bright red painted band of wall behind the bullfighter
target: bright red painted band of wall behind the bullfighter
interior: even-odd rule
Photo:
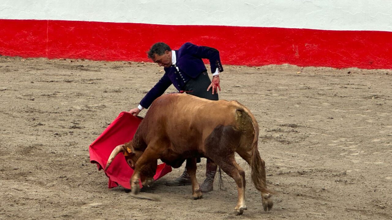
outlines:
[[[392,69],[392,32],[273,27],[153,25],[58,20],[0,20],[6,56],[149,61],[145,51],[164,41],[190,41],[220,50],[223,64]]]

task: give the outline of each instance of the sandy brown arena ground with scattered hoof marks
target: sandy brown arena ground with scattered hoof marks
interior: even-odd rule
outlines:
[[[155,64],[0,56],[0,219],[392,218],[391,71],[224,68],[220,98],[247,106],[260,125],[259,151],[277,192],[272,211],[263,211],[240,157],[242,216],[232,215],[237,189],[227,175],[226,191],[216,179],[201,200],[191,199],[191,186],[164,185],[183,168],[144,190],[162,202],[107,188],[89,144],[160,79]],[[205,159],[199,182],[204,174]]]

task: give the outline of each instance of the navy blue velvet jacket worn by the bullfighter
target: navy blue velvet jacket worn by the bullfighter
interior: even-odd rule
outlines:
[[[176,53],[176,67],[165,67],[165,74],[155,84],[154,87],[144,96],[140,105],[144,108],[150,107],[151,103],[169,88],[174,85],[178,91],[184,90],[185,84],[189,78],[196,78],[207,69],[201,59],[209,59],[211,64],[211,72],[215,72],[218,68],[219,72],[223,72],[222,64],[219,58],[219,51],[212,47],[197,46],[192,43],[184,43],[180,49],[172,50]]]

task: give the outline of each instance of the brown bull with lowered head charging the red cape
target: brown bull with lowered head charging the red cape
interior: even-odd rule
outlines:
[[[196,180],[195,157],[208,157],[232,177],[238,188],[237,215],[245,205],[245,172],[237,164],[237,152],[252,169],[253,183],[261,192],[265,211],[272,208],[270,191],[265,180],[264,161],[257,148],[259,128],[253,114],[237,101],[210,101],[187,94],[168,94],[157,98],[140,123],[131,142],[117,146],[114,157],[123,152],[129,166],[132,195],[142,184],[152,181],[157,160],[178,168],[186,160],[192,180],[192,198],[202,197]]]

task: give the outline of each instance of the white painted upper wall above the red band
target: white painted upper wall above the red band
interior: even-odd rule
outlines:
[[[392,1],[0,0],[0,19],[392,31]]]

